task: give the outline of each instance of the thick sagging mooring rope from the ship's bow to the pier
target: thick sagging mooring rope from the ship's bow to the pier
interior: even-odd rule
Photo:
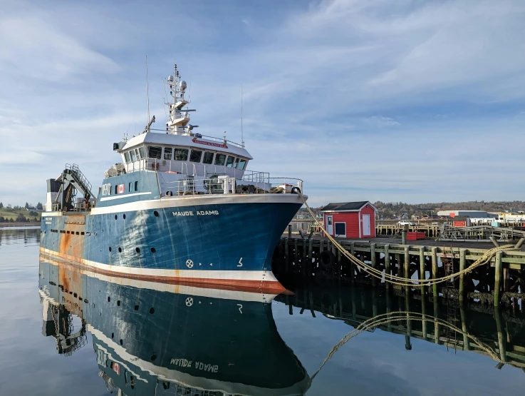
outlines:
[[[358,268],[366,271],[367,273],[370,273],[370,275],[372,275],[373,277],[378,278],[380,280],[384,279],[385,282],[393,283],[394,285],[410,286],[412,288],[422,288],[424,286],[436,285],[437,283],[446,282],[447,280],[456,278],[459,275],[471,273],[475,268],[481,265],[487,265],[490,262],[490,260],[492,260],[494,255],[496,255],[496,253],[498,252],[502,252],[504,250],[507,250],[507,251],[519,250],[518,248],[515,248],[514,245],[504,245],[504,246],[499,246],[498,248],[489,249],[479,259],[477,259],[474,263],[472,263],[472,265],[469,265],[468,268],[464,268],[464,270],[461,270],[457,273],[452,273],[450,275],[443,276],[442,278],[420,280],[420,279],[403,278],[403,277],[396,276],[393,274],[383,273],[382,270],[378,270],[378,268],[374,268],[371,265],[363,263],[363,261],[359,260],[358,258],[355,257],[355,255],[351,254],[348,250],[343,248],[341,243],[338,243],[336,239],[334,239],[331,235],[329,235],[326,232],[326,229],[323,227],[323,224],[321,224],[321,222],[316,218],[315,213],[313,213],[310,206],[308,206],[308,203],[306,203],[306,200],[304,199],[301,191],[297,191],[297,194],[303,200],[304,205],[308,209],[308,212],[311,214],[313,219],[316,220],[317,225],[321,228],[321,230],[323,230],[323,233],[325,233],[325,235],[328,237],[331,243],[333,243],[333,245],[336,246],[336,248],[338,248],[338,250],[345,256],[345,258],[348,258],[350,262],[354,263],[355,265],[358,266]]]

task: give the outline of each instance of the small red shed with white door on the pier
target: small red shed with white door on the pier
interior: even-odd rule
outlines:
[[[338,238],[375,238],[375,214],[368,200],[328,203],[321,209],[326,232]]]

